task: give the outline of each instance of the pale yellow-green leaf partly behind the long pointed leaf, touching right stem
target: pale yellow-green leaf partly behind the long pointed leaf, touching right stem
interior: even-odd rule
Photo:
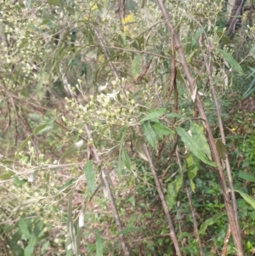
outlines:
[[[191,122],[190,131],[192,138],[195,139],[197,145],[201,148],[201,151],[204,151],[207,157],[212,160],[210,146],[207,143],[203,126],[198,125],[196,122]]]

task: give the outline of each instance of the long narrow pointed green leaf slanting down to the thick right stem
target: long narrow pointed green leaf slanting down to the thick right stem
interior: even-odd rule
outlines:
[[[200,145],[196,143],[195,139],[193,139],[190,134],[188,134],[184,130],[184,128],[178,127],[176,128],[176,132],[183,140],[184,145],[193,153],[194,156],[212,167],[218,167],[215,162],[212,162],[210,159],[207,158],[205,152],[201,149]]]

